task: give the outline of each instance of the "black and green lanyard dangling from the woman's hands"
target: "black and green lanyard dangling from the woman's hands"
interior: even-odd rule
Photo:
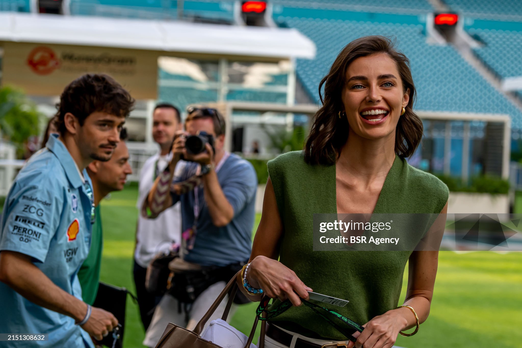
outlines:
[[[257,306],[256,315],[259,318],[259,320],[267,320],[267,319],[271,319],[271,318],[277,317],[278,315],[282,314],[283,312],[287,311],[290,307],[292,307],[292,303],[290,302],[290,300],[286,299],[285,301],[281,302],[275,309],[268,310],[267,306],[268,306],[268,302],[269,301],[270,301],[270,298],[265,296],[263,298],[263,300],[261,301],[261,303],[259,304],[259,306]],[[351,319],[349,319],[349,318],[347,318],[347,317],[345,317],[343,315],[340,315],[336,311],[330,310],[330,309],[325,308],[325,307],[318,306],[318,305],[316,305],[314,303],[311,303],[311,302],[308,302],[308,301],[306,301],[305,299],[302,299],[302,298],[301,298],[301,301],[303,302],[303,304],[305,306],[307,306],[307,307],[311,308],[313,311],[315,311],[315,313],[317,313],[319,316],[321,316],[321,318],[323,318],[331,326],[336,328],[337,331],[339,331],[340,333],[345,335],[352,342],[357,341],[357,339],[352,336],[352,333],[354,331],[353,332],[347,331],[346,328],[340,327],[339,325],[337,325],[334,321],[332,321],[327,316],[335,317],[335,318],[338,318],[338,319],[342,320],[343,322],[345,322],[348,326],[350,326],[355,331],[362,332],[362,330],[364,330],[364,328],[361,325],[359,325],[355,321],[353,321],[353,320],[351,320]],[[261,317],[261,314],[263,312],[267,313],[267,317],[266,318]]]

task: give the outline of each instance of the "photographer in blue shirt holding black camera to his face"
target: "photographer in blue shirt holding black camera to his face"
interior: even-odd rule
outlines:
[[[152,317],[144,341],[147,346],[157,344],[169,322],[194,329],[251,252],[257,188],[254,168],[224,151],[225,123],[215,109],[191,108],[188,113],[186,133],[176,134],[172,160],[148,197],[151,217],[181,201],[183,255],[172,262],[173,284]],[[174,177],[181,159],[190,162],[182,175]],[[169,189],[170,195],[166,194]],[[221,317],[225,303],[208,322]]]

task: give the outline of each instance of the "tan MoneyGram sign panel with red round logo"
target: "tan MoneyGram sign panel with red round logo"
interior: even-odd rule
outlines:
[[[152,51],[6,42],[3,82],[34,95],[60,95],[86,73],[104,73],[136,99],[157,98],[158,53]]]

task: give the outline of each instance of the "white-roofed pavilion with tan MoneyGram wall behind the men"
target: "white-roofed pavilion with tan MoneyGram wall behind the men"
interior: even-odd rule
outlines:
[[[52,52],[57,66],[56,69],[44,69],[45,74],[31,70],[28,64],[31,54],[41,47]],[[283,74],[287,74],[286,83],[265,86],[264,91],[286,93],[286,104],[293,105],[295,59],[313,58],[315,54],[315,44],[298,30],[290,28],[0,12],[0,56],[3,63],[0,80],[3,84],[25,89],[44,113],[51,116],[57,95],[82,71],[107,72],[138,99],[127,125],[129,131],[143,134],[141,140],[144,142],[128,143],[136,176],[131,179],[137,178],[143,161],[157,149],[151,136],[151,114],[158,99],[157,87],[162,83],[168,86],[173,83],[158,80],[158,66],[170,73],[189,67],[189,64],[169,65],[176,59],[180,63],[183,59],[217,62],[219,80],[208,83],[188,81],[193,85],[198,83],[197,88],[204,86],[217,91],[216,100],[201,102],[226,100],[227,91],[233,88],[255,91],[258,87],[252,77],[255,79],[258,76],[259,80],[263,80],[264,71],[269,74],[273,70],[266,64],[286,67],[283,69],[286,71]],[[128,57],[133,63],[132,74],[128,73],[129,69],[124,69],[118,75],[121,69],[118,70],[117,66],[93,63],[103,56]],[[169,61],[169,58],[173,59]],[[245,74],[248,78],[235,85],[228,82],[227,75],[227,68],[233,62],[253,64]],[[198,67],[192,68],[191,71],[184,70],[184,74],[197,76],[198,71],[194,68]],[[178,87],[190,88],[184,85]]]

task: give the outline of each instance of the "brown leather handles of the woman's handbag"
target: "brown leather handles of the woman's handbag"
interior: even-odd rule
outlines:
[[[227,306],[225,307],[225,310],[223,311],[223,316],[221,317],[222,320],[227,320],[227,317],[230,313],[230,307],[232,306],[232,302],[234,301],[234,297],[236,292],[238,291],[238,285],[236,283],[236,277],[238,276],[238,273],[234,275],[234,277],[228,282],[227,286],[224,287],[224,289],[219,294],[218,298],[216,298],[216,301],[210,306],[210,308],[207,310],[207,313],[199,320],[199,322],[196,325],[196,328],[194,329],[194,333],[201,335],[201,331],[203,331],[203,327],[205,326],[208,319],[210,319],[210,316],[216,311],[220,303],[223,301],[225,296],[229,294],[229,299],[227,302]],[[267,297],[263,295],[263,298],[261,299],[262,302],[266,302]],[[268,299],[269,300],[269,299]],[[252,341],[254,340],[254,335],[256,333],[257,329],[257,323],[259,322],[259,317],[265,318],[265,313],[260,314],[260,316],[255,317],[254,319],[254,325],[252,325],[252,330],[250,331],[250,335],[248,335],[248,340],[246,341],[245,348],[250,348],[250,345],[252,344]],[[266,332],[266,319],[262,320],[261,323],[261,334],[259,335],[259,348],[265,347],[265,332]]]

